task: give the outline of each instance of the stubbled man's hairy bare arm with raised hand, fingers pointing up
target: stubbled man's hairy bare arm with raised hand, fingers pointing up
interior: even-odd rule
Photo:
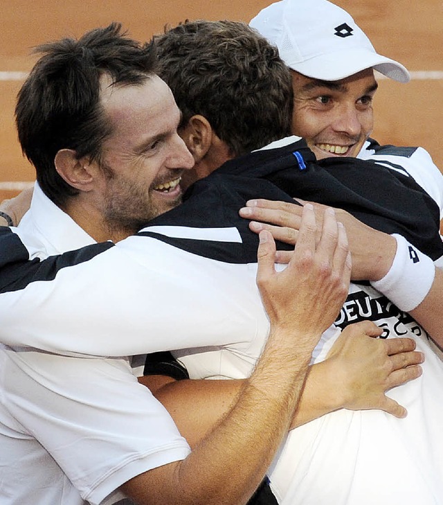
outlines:
[[[242,504],[260,484],[291,423],[314,346],[334,321],[349,283],[343,229],[329,214],[316,247],[312,209],[304,218],[301,240],[283,272],[275,272],[270,234],[260,234],[257,285],[271,332],[251,377],[185,460],[123,486],[138,504]]]

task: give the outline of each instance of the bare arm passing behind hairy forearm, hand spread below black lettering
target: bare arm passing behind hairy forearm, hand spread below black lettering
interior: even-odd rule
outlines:
[[[337,409],[381,409],[397,417],[406,410],[386,391],[422,373],[422,353],[409,338],[374,339],[381,330],[364,321],[348,326],[327,359],[309,367],[291,428]],[[162,375],[139,378],[168,409],[191,447],[219,422],[237,398],[243,380],[180,380]]]

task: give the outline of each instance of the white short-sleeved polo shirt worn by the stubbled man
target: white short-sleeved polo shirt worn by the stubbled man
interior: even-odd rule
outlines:
[[[93,243],[38,186],[20,228],[35,236],[42,255]],[[75,288],[63,303],[73,296]],[[63,326],[56,312],[49,319]],[[84,326],[94,339],[93,325]],[[125,481],[190,452],[126,357],[1,346],[0,384],[1,505],[111,504],[123,497],[116,490]]]

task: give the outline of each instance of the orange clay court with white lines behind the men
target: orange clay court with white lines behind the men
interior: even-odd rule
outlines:
[[[309,0],[306,0],[309,1]],[[184,19],[249,21],[268,0],[0,0],[0,200],[34,179],[21,156],[14,125],[15,96],[35,61],[31,48],[66,35],[120,21],[132,37],[146,40],[165,24]],[[336,0],[349,10],[377,51],[413,73],[401,85],[386,79],[374,102],[381,143],[422,145],[443,169],[443,1]]]

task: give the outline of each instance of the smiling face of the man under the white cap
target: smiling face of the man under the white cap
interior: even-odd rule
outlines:
[[[372,132],[374,71],[323,81],[292,71],[293,134],[306,139],[317,159],[356,157]]]

